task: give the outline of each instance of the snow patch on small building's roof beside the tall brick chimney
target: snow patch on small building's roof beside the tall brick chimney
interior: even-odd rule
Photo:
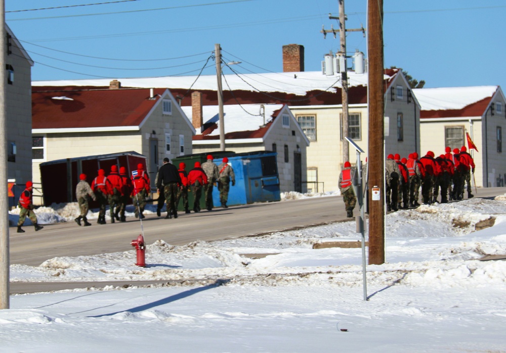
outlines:
[[[255,131],[258,130],[261,125],[268,123],[272,120],[272,114],[281,108],[282,104],[264,104],[265,107],[265,122],[264,116],[260,115],[261,104],[235,104],[223,106],[223,119],[225,123],[225,134],[235,133],[237,131]],[[183,112],[191,119],[192,107],[186,106],[181,107]],[[216,122],[219,123],[219,107],[203,106],[202,107],[203,122]],[[251,115],[253,114],[253,115]],[[198,134],[197,134],[198,135]],[[220,135],[220,129],[216,128],[209,134],[209,136]]]

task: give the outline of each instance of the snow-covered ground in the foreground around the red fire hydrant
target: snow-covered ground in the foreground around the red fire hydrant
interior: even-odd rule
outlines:
[[[146,268],[135,250],[12,265],[11,282],[178,282],[13,295],[0,311],[0,351],[506,352],[506,261],[479,260],[506,255],[505,200],[389,214],[386,263],[367,266],[368,300],[360,248],[313,249],[360,240],[354,222],[156,241]],[[72,207],[39,208],[39,222],[71,219]]]

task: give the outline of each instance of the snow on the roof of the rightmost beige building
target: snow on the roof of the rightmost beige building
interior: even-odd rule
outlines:
[[[421,110],[459,110],[492,97],[498,86],[440,87],[414,89]]]

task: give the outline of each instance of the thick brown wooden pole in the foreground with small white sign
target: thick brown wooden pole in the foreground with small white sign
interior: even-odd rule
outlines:
[[[385,90],[383,83],[383,0],[367,1],[369,58],[369,190],[379,187],[381,200],[369,192],[369,264],[385,262],[385,173],[383,152]]]

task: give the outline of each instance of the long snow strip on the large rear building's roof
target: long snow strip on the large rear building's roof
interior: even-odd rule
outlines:
[[[389,79],[396,71],[388,71],[384,75]],[[349,86],[366,86],[368,74],[357,74],[348,71]],[[82,79],[33,81],[33,86],[109,86],[111,79]],[[122,87],[166,87],[187,88],[192,90],[216,90],[216,75],[201,76],[164,76],[142,78],[118,78]],[[261,92],[286,92],[296,95],[306,95],[308,91],[327,91],[332,87],[341,86],[341,75],[325,76],[321,71],[282,72],[282,73],[250,73],[226,74],[222,80],[223,90],[244,90]]]

